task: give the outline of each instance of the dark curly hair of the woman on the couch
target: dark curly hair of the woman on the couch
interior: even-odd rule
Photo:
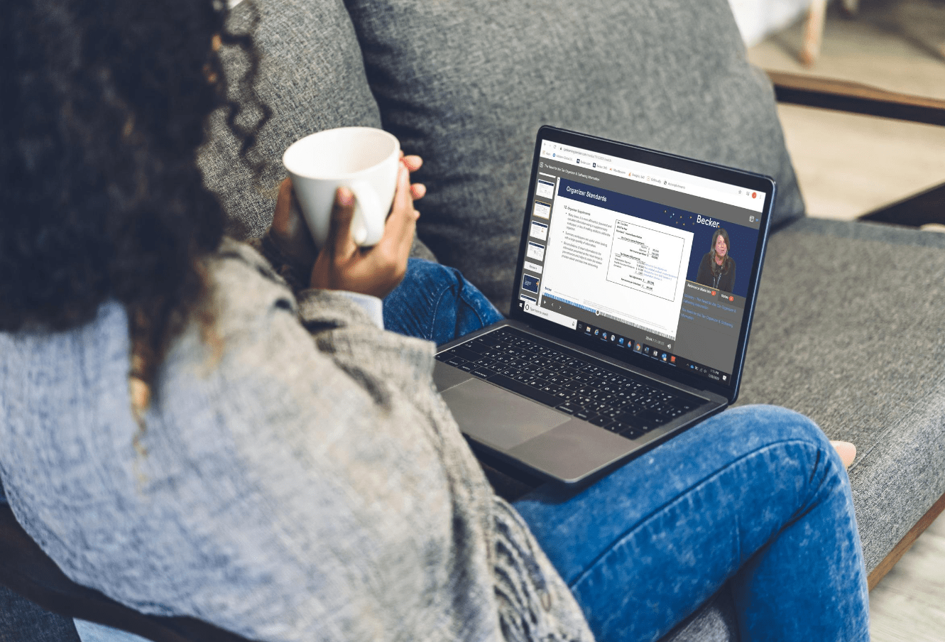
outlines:
[[[151,380],[226,226],[196,162],[205,120],[226,109],[246,159],[269,115],[226,16],[221,0],[0,3],[0,331],[73,328],[115,300]],[[249,57],[238,101],[221,42]]]

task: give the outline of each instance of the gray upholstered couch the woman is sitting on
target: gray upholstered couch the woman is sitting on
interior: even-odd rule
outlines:
[[[259,12],[258,86],[274,110],[265,175],[253,182],[236,161],[222,120],[201,156],[239,234],[266,229],[293,140],[384,127],[426,160],[415,252],[506,309],[542,124],[773,176],[738,403],[797,409],[857,445],[871,585],[882,577],[945,496],[945,235],[803,216],[770,82],[748,65],[726,0],[261,0]],[[241,6],[232,26],[252,19]],[[727,591],[664,639],[737,639]]]

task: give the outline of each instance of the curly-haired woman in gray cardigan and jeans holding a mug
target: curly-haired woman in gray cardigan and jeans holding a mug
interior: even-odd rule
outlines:
[[[368,251],[339,190],[315,252],[288,183],[261,253],[226,239],[194,161],[224,8],[0,9],[0,478],[70,578],[256,640],[651,640],[726,581],[742,639],[868,638],[849,480],[796,413],[492,494],[431,341],[498,316],[407,262],[420,159]]]

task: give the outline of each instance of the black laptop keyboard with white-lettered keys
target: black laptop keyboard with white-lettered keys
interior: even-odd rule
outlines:
[[[642,437],[703,403],[509,327],[437,358],[627,439]]]

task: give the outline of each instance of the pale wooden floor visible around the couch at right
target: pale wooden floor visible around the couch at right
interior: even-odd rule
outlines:
[[[752,47],[749,58],[770,70],[945,98],[945,60],[935,46],[945,43],[945,2],[862,0],[854,18],[832,7],[822,58],[812,69],[798,62],[800,39],[801,26],[788,27]],[[849,220],[945,182],[945,128],[779,110],[811,216]],[[873,642],[945,642],[945,513],[869,599]]]

